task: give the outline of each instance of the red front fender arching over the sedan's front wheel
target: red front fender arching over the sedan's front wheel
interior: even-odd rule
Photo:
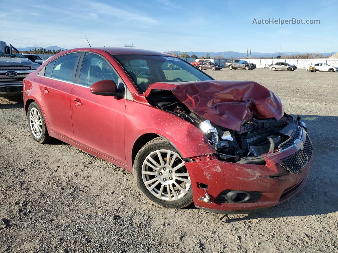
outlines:
[[[126,166],[132,167],[132,148],[144,134],[157,134],[167,139],[182,158],[215,153],[207,137],[193,124],[158,108],[133,101],[126,103]]]

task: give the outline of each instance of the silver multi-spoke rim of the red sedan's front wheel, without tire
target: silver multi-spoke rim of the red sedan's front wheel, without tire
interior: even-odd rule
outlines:
[[[184,161],[168,149],[148,154],[142,164],[142,179],[152,195],[167,201],[182,198],[191,186]]]

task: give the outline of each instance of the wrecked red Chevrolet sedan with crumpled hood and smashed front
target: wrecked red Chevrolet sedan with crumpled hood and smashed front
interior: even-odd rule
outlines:
[[[303,187],[311,165],[305,123],[273,92],[215,81],[165,53],[67,50],[29,74],[23,96],[35,141],[53,137],[133,172],[168,208],[273,206]]]

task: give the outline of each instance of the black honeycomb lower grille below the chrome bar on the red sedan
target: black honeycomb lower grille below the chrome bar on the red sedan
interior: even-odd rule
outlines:
[[[304,143],[304,149],[281,159],[285,164],[284,168],[293,174],[300,173],[300,169],[307,165],[312,155],[312,145],[310,139],[307,137]]]

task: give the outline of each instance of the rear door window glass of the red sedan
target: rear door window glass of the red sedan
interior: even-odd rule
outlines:
[[[52,78],[71,82],[79,54],[72,53],[58,57],[53,68]]]

